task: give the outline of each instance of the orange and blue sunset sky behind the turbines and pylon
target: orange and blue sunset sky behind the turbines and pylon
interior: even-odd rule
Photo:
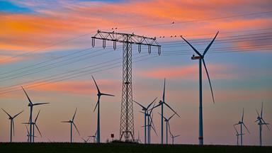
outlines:
[[[152,47],[138,52],[132,45],[133,99],[144,105],[162,99],[166,78],[166,103],[181,118],[171,119],[171,132],[179,144],[198,144],[198,62],[184,42],[186,38],[203,52],[219,34],[205,55],[215,103],[212,103],[208,79],[203,69],[204,143],[235,145],[232,125],[238,123],[244,108],[244,145],[258,145],[256,109],[263,102],[263,119],[272,123],[271,27],[272,2],[228,1],[89,1],[89,0],[0,0],[0,108],[11,115],[24,111],[15,119],[14,141],[26,141],[21,123],[29,117],[24,86],[34,102],[49,102],[40,110],[38,127],[42,137],[37,142],[69,141],[72,119],[81,136],[74,131],[74,141],[94,135],[97,114],[96,88],[115,97],[101,98],[101,141],[118,139],[122,94],[122,44],[101,41],[91,46],[97,30],[135,33],[156,38],[162,54]],[[157,101],[158,103],[158,101]],[[133,104],[135,137],[139,131],[144,142],[144,116]],[[154,124],[160,133],[159,109],[154,110]],[[172,115],[165,109],[166,116]],[[0,142],[9,140],[8,116],[1,111]],[[165,126],[165,125],[164,125]],[[238,128],[238,127],[237,127]],[[271,127],[270,127],[271,128]],[[164,128],[165,130],[165,128]],[[164,131],[165,134],[165,131]],[[165,137],[165,136],[164,136]],[[152,143],[160,134],[152,132]],[[263,145],[272,145],[272,130],[263,128]]]

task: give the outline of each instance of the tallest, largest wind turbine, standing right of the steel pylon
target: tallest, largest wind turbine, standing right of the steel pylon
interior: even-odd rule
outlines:
[[[219,33],[219,31],[216,33],[215,38],[217,37],[218,33]],[[209,76],[208,69],[207,69],[206,64],[205,64],[204,57],[205,57],[205,54],[207,53],[207,51],[209,50],[210,46],[212,45],[212,42],[215,41],[215,38],[213,38],[212,41],[210,42],[210,44],[205,48],[202,55],[200,54],[200,52],[198,52],[198,50],[196,50],[195,47],[193,47],[193,45],[191,45],[182,36],[181,36],[181,38],[184,41],[186,41],[188,43],[188,45],[190,45],[191,48],[198,55],[198,56],[193,55],[193,57],[191,57],[191,60],[199,60],[199,137],[198,137],[198,141],[199,141],[199,145],[203,145],[204,138],[203,138],[203,108],[202,108],[202,62],[203,62],[205,72],[207,74],[208,81],[209,81],[209,84],[210,84],[210,76]],[[213,96],[213,91],[212,91],[212,85],[211,84],[210,84],[210,91],[212,93],[212,101],[213,101],[213,103],[215,103],[215,98]]]

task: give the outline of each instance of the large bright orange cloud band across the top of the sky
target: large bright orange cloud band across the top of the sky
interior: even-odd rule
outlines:
[[[241,10],[250,13],[270,11],[264,6],[270,1],[125,1],[118,4],[84,1],[73,3],[58,1],[60,8],[50,7],[52,3],[38,4],[33,1],[14,1],[28,6],[36,14],[0,13],[0,50],[27,52],[39,47],[52,45],[84,33],[96,33],[97,29],[111,30],[138,35],[170,36],[198,35],[216,33],[217,30],[245,30],[271,27],[268,16],[249,18],[239,16],[218,20],[205,20],[220,16],[235,16]],[[38,7],[45,5],[46,7]],[[133,9],[132,9],[133,8]],[[190,22],[195,20],[202,20]],[[175,21],[175,24],[171,24]],[[186,23],[188,22],[188,23]],[[157,23],[169,23],[163,26]],[[219,35],[219,37],[221,34]],[[210,38],[210,35],[198,35],[198,38]],[[50,50],[66,50],[81,45],[90,45],[91,35],[86,35],[81,42],[71,41],[56,45]],[[39,50],[38,52],[44,52]]]

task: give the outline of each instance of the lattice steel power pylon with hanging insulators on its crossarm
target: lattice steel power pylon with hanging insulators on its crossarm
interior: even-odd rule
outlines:
[[[138,45],[138,52],[141,52],[141,45],[158,47],[158,54],[161,54],[161,45],[156,38],[147,38],[140,35],[129,33],[115,33],[98,30],[94,37],[91,37],[91,44],[94,47],[95,40],[103,40],[103,48],[106,47],[106,40],[113,41],[113,49],[116,49],[116,42],[123,43],[123,89],[120,116],[120,140],[134,141],[134,120],[132,103],[132,44]]]

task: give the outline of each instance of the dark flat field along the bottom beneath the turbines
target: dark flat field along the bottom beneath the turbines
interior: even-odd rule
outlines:
[[[2,153],[11,152],[272,152],[272,147],[237,147],[222,145],[140,145],[140,144],[91,144],[91,143],[0,143]]]

